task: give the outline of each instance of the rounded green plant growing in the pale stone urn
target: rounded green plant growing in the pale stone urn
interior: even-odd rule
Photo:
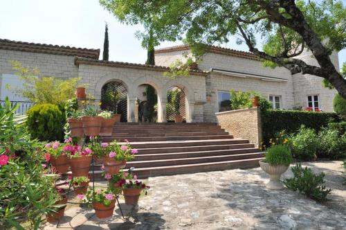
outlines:
[[[285,145],[273,145],[266,152],[265,162],[273,166],[289,166],[292,156]]]

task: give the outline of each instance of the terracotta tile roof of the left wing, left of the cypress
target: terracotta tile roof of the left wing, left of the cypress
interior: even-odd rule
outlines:
[[[9,39],[0,39],[0,49],[67,56],[80,56],[93,59],[98,59],[98,56],[100,55],[100,49],[75,48],[70,46],[57,46],[51,44],[17,42]]]

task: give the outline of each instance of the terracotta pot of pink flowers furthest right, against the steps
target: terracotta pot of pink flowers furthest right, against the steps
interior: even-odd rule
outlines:
[[[118,145],[116,141],[110,143],[107,148],[108,154],[104,158],[104,172],[110,175],[115,175],[120,168],[125,168],[126,162],[134,159],[134,154],[138,152],[136,149],[131,149],[129,143],[126,145]]]

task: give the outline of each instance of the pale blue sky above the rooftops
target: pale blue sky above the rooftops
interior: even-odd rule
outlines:
[[[135,37],[141,26],[120,24],[98,0],[11,0],[0,3],[0,38],[83,48],[101,48],[109,25],[109,60],[144,63],[146,51]],[[181,44],[165,42],[159,47]],[[222,46],[248,51],[235,41]],[[101,51],[102,52],[102,51]],[[102,56],[102,53],[101,53]],[[339,63],[346,62],[346,50]]]

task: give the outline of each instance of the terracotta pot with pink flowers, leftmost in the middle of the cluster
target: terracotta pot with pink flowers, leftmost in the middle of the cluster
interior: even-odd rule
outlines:
[[[44,145],[46,161],[50,161],[57,173],[66,173],[69,169],[69,159],[63,151],[62,143],[55,141]]]

